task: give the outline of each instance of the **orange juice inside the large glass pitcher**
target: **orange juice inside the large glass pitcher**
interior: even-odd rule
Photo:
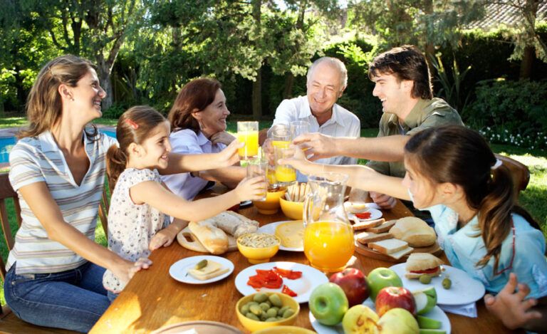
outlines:
[[[353,230],[339,221],[316,221],[306,225],[304,254],[321,271],[341,271],[353,256]]]

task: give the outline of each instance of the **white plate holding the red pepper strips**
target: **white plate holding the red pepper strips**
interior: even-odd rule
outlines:
[[[324,273],[311,266],[295,262],[268,262],[255,264],[254,266],[247,267],[240,271],[236,276],[237,291],[244,296],[255,293],[257,290],[252,286],[247,285],[249,277],[256,275],[256,269],[271,270],[273,267],[302,271],[302,277],[298,279],[283,277],[283,284],[298,294],[298,296],[294,297],[298,303],[307,303],[310,299],[311,291],[313,291],[316,286],[328,282],[328,278]],[[283,288],[283,286],[281,286],[281,288]],[[281,292],[281,288],[261,288],[259,291]]]

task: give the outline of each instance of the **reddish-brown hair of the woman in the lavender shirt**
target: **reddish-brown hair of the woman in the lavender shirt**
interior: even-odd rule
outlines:
[[[199,131],[199,123],[192,116],[194,110],[201,111],[214,101],[217,91],[222,88],[218,80],[212,78],[194,79],[184,85],[174,100],[169,112],[171,131],[192,129]]]

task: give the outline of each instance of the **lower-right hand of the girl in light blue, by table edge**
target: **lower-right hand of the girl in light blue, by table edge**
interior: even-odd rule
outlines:
[[[517,286],[519,291],[515,292]],[[484,296],[484,304],[507,328],[516,329],[523,327],[530,320],[541,318],[541,313],[530,310],[536,306],[537,301],[534,298],[525,299],[528,293],[530,288],[526,284],[519,284],[515,273],[510,273],[509,281],[497,296],[489,293]]]

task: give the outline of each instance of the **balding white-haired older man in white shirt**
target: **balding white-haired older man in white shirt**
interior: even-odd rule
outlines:
[[[360,121],[357,116],[336,101],[348,85],[348,71],[339,59],[323,57],[316,60],[308,70],[307,94],[283,100],[276,110],[272,128],[279,124],[291,124],[305,120],[310,132],[319,132],[332,137],[359,137]],[[352,165],[353,157],[328,157],[318,162],[329,165]]]

